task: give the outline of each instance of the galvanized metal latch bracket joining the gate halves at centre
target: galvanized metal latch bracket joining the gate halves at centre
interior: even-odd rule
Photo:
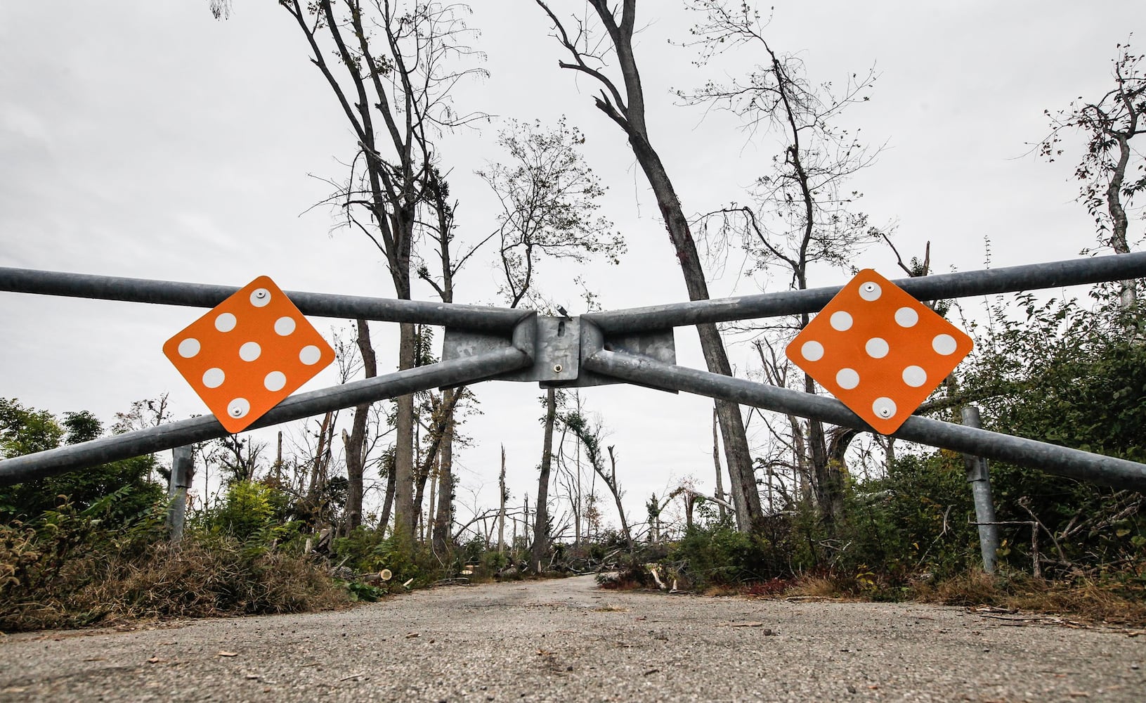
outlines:
[[[664,364],[676,364],[673,330],[614,334],[602,338],[592,322],[576,318],[536,315],[523,320],[519,327],[533,328],[533,366],[507,374],[489,376],[499,381],[536,381],[542,388],[581,388],[622,383],[603,374],[587,372],[581,359],[605,344],[611,350],[649,357]],[[521,335],[518,334],[520,337]],[[513,345],[508,335],[447,327],[442,341],[442,361],[484,354]],[[674,391],[675,392],[675,391]]]

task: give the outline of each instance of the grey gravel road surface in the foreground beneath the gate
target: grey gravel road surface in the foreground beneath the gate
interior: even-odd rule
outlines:
[[[1130,633],[1132,634],[1132,633]],[[1146,701],[1146,635],[592,577],[0,635],[0,701]]]

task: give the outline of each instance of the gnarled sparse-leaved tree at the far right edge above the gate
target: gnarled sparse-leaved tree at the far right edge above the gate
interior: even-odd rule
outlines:
[[[1062,155],[1063,132],[1081,132],[1086,138],[1085,153],[1075,169],[1082,181],[1078,200],[1094,218],[1099,240],[1115,253],[1129,253],[1127,232],[1130,218],[1127,208],[1133,197],[1146,190],[1146,162],[1130,140],[1146,132],[1146,72],[1144,54],[1132,54],[1130,44],[1117,45],[1113,61],[1114,87],[1097,102],[1082,97],[1066,110],[1052,115],[1051,133],[1038,143],[1038,154],[1053,162]],[[1139,173],[1136,179],[1128,174]],[[1137,282],[1120,282],[1118,303],[1123,310],[1138,299]]]

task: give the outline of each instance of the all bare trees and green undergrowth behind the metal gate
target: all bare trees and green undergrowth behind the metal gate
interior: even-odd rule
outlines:
[[[667,171],[675,157],[662,161],[657,151],[667,155],[684,140],[651,136],[666,125],[647,124],[662,116],[645,114],[634,50],[644,24],[637,3],[595,0],[568,15],[542,0],[529,5],[552,29],[565,78],[580,72],[601,88],[592,100],[609,131],[587,136],[565,118],[507,123],[488,140],[500,161],[477,172],[500,212],[462,228],[456,216],[468,211],[450,195],[440,138],[490,117],[455,106],[450,94],[460,81],[485,76],[466,8],[277,3],[300,32],[299,52],[321,73],[309,78],[329,87],[354,134],[347,172],[328,180],[333,193],[323,204],[384,256],[385,288],[392,284],[398,298],[432,289],[442,303],[454,303],[455,294],[457,302],[479,299],[480,290],[455,289],[455,274],[486,257],[500,272],[503,305],[572,319],[550,299],[540,272],[560,259],[617,264],[627,249],[602,212],[605,186],[582,154],[586,140],[598,136],[633,149],[692,300],[708,298],[712,272],[736,261],[743,261],[737,278],[771,291],[839,283],[862,252],[877,249],[885,267],[894,260],[910,276],[932,272],[929,243],[921,259],[904,261],[894,226],[873,224],[849,182],[874,164],[879,148],[837,125],[850,124],[841,114],[869,101],[874,71],[833,87],[811,76],[801,53],[769,42],[767,13],[754,3],[686,0],[694,25],[683,48],[698,67],[739,68],[714,64],[713,75],[727,83],[705,81],[676,96],[684,108],[740,120],[761,169],[724,204],[692,202]],[[229,2],[210,7],[225,17]],[[1034,149],[1049,161],[1082,154],[1074,177],[1097,232],[1084,255],[1140,245],[1133,198],[1146,190],[1146,166],[1130,141],[1146,124],[1143,55],[1120,45],[1113,68],[1114,85],[1100,100],[1080,97],[1047,112],[1050,134]],[[462,236],[490,225],[484,240]],[[659,226],[650,232],[661,236]],[[584,308],[595,310],[594,291],[574,281]],[[960,422],[961,408],[974,404],[984,429],[1146,462],[1143,283],[1096,286],[1081,299],[998,297],[982,312],[931,302],[936,313],[963,318],[975,351],[918,412]],[[705,365],[731,375],[727,346],[751,344],[759,365],[753,359],[738,369],[741,377],[824,393],[783,353],[809,320],[803,313],[745,321],[736,330],[701,325]],[[402,323],[387,341],[397,341],[399,368],[437,362],[434,334]],[[343,383],[378,374],[366,320],[332,342]],[[463,505],[455,454],[499,440],[465,435],[466,417],[480,412],[479,393],[453,388],[331,411],[284,428],[273,459],[254,435],[196,445],[194,500],[178,542],[166,524],[168,469],[156,456],[0,487],[0,631],[299,612],[435,584],[591,572],[609,575],[602,580],[612,587],[917,599],[1146,623],[1141,493],[994,462],[1000,545],[997,573],[987,576],[960,455],[721,400],[713,407],[715,466],[704,468],[705,477],[715,468],[715,491],[698,490],[706,478],[674,478],[645,500],[646,515],[631,515],[625,500],[631,467],[607,444],[607,417],[589,407],[589,393],[550,388],[539,409],[543,450],[529,492],[507,485],[503,448],[495,505],[479,505],[477,492],[473,505]],[[168,420],[160,397],[136,403],[109,431]],[[0,398],[2,458],[104,431],[88,412],[56,416]],[[493,468],[484,469],[492,479]]]

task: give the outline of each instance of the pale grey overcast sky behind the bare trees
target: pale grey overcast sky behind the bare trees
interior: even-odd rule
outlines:
[[[579,2],[552,2],[580,8]],[[272,0],[235,0],[212,19],[206,0],[0,0],[0,266],[243,286],[269,275],[284,289],[390,296],[388,274],[361,234],[331,232],[320,178],[338,178],[354,139],[291,18]],[[637,58],[647,116],[684,208],[701,212],[747,202],[776,148],[735,122],[674,104],[670,88],[708,77],[682,39],[692,18],[677,2],[639,3]],[[545,267],[543,286],[581,312],[572,278],[582,274],[606,307],[686,298],[656,203],[627,144],[592,108],[596,87],[557,68],[562,53],[533,2],[476,0],[476,48],[489,78],[462,85],[456,103],[495,119],[441,141],[468,241],[494,227],[495,209],[476,169],[503,158],[505,118],[552,124],[562,115],[587,135],[589,164],[610,187],[604,212],[625,234],[620,266]],[[873,146],[858,174],[859,206],[894,226],[904,256],[932,242],[935,271],[1070,258],[1093,227],[1069,177],[1075,159],[1046,164],[1029,154],[1047,130],[1044,109],[1110,85],[1115,45],[1146,31],[1146,6],[1116,2],[778,3],[767,33],[799,55],[809,77],[839,85],[874,68],[870,102],[850,110]],[[737,73],[759,56],[728,57]],[[312,177],[313,174],[313,177]],[[317,178],[314,178],[317,177]],[[1135,234],[1140,234],[1135,233]],[[457,300],[495,302],[493,252],[457,281]],[[886,248],[857,266],[898,278]],[[737,263],[714,276],[713,295],[756,292]],[[842,284],[824,273],[815,286]],[[783,287],[769,283],[769,290]],[[430,298],[422,289],[417,296]],[[968,300],[968,306],[978,302]],[[170,392],[176,417],[205,412],[162,353],[163,343],[203,311],[0,292],[0,396],[55,413],[89,409],[109,421],[133,400]],[[314,319],[329,337],[338,320]],[[392,326],[375,325],[382,370],[394,367]],[[702,366],[696,334],[680,329],[682,364]],[[746,346],[731,350],[739,373]],[[304,386],[333,382],[330,373]],[[539,390],[487,383],[482,414],[457,455],[462,490],[496,500],[499,445],[510,489],[533,492],[540,458]],[[712,490],[711,401],[639,389],[583,391],[618,447],[634,517],[650,492],[684,477]]]

